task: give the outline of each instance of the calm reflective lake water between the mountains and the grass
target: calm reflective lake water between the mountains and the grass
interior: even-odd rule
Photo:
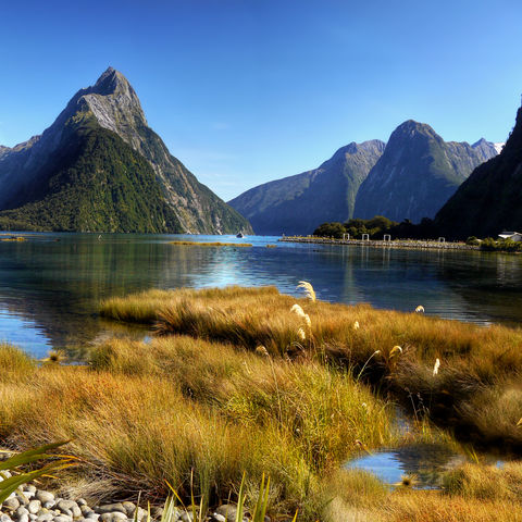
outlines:
[[[244,241],[252,248],[192,248],[177,239]],[[277,244],[275,237],[34,234],[0,241],[0,340],[41,357],[113,335],[100,299],[146,288],[275,285],[321,299],[481,324],[522,321],[522,259],[459,251]],[[276,248],[266,248],[277,244]]]

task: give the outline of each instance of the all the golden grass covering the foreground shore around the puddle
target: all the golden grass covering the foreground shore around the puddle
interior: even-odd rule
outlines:
[[[343,470],[360,452],[448,439],[520,452],[522,333],[501,326],[284,296],[273,287],[150,290],[103,315],[154,325],[150,341],[112,339],[88,365],[37,365],[0,348],[0,438],[20,448],[73,438],[83,476],[105,499],[169,494],[246,504],[270,475],[269,512],[338,522],[522,520],[522,464],[465,464],[444,492],[389,488]],[[414,428],[399,431],[396,401]],[[470,437],[468,437],[470,438]],[[475,455],[475,453],[473,453]],[[285,519],[287,515],[287,519]],[[279,520],[279,519],[277,519]]]

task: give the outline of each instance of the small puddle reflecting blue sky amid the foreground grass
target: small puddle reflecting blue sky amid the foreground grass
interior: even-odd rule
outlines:
[[[372,455],[348,461],[345,469],[369,471],[389,485],[400,483],[405,475],[414,475],[414,488],[440,489],[444,474],[465,462],[471,462],[471,459],[446,445],[412,444],[376,450]],[[501,465],[501,462],[493,457],[486,458],[486,462]]]

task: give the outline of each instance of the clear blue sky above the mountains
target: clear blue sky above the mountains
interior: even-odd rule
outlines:
[[[521,32],[520,0],[2,2],[0,145],[40,134],[109,65],[224,200],[409,119],[505,141]]]

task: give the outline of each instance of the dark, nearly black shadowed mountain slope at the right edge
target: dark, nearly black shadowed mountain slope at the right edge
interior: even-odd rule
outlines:
[[[522,229],[522,108],[502,151],[477,166],[439,210],[435,224],[449,238],[496,237]]]

